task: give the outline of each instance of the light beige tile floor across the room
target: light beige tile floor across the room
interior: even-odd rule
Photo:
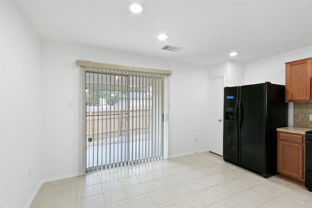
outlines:
[[[31,208],[311,208],[312,192],[211,152],[42,184]]]

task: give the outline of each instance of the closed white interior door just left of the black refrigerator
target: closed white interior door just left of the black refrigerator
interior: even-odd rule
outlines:
[[[208,150],[223,155],[223,80],[209,79],[208,90]]]

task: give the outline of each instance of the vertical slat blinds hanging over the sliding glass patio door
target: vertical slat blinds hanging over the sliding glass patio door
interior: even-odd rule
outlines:
[[[162,159],[165,75],[81,68],[86,106],[86,170]]]

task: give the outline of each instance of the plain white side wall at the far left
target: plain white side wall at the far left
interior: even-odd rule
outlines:
[[[40,40],[14,2],[0,4],[0,207],[22,208],[42,179]]]

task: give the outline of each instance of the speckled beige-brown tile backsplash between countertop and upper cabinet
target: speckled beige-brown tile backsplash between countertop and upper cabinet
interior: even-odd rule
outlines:
[[[293,103],[293,126],[312,128],[312,103]]]

